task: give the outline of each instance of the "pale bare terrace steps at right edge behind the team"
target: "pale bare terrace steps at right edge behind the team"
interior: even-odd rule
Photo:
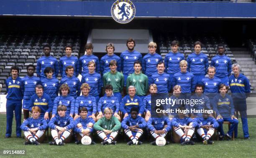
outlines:
[[[233,50],[233,48],[231,48]],[[250,80],[250,85],[254,89],[256,88],[256,65],[253,58],[250,57],[250,52],[245,48],[234,48],[236,51],[232,51],[237,63],[241,66],[243,74]],[[241,50],[241,51],[239,51]]]

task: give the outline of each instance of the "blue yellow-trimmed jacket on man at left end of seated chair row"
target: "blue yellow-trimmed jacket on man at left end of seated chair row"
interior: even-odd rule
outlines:
[[[51,101],[51,98],[47,94],[43,94],[42,97],[38,97],[37,94],[32,95],[30,101],[29,101],[29,111],[32,110],[32,107],[37,106],[41,110],[40,117],[44,117],[44,114],[48,112],[50,114],[53,102]]]

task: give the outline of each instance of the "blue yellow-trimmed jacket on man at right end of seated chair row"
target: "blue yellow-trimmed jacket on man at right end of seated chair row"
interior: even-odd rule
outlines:
[[[235,115],[233,99],[228,94],[225,94],[225,97],[217,94],[213,98],[212,106],[216,116],[221,115],[223,118],[230,118],[231,115]]]

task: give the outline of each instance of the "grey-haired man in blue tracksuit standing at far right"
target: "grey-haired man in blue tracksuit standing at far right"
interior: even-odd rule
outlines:
[[[241,115],[243,125],[243,137],[250,139],[247,121],[247,107],[246,98],[250,95],[250,82],[246,76],[240,74],[241,67],[239,64],[233,64],[233,75],[229,77],[229,85],[232,93],[233,104],[236,110],[236,116],[238,118],[238,112]],[[238,135],[238,128],[235,129],[235,137]]]

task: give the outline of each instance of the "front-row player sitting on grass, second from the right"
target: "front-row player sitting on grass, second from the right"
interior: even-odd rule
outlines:
[[[172,128],[174,142],[181,142],[181,145],[194,145],[195,142],[190,140],[195,132],[195,127],[197,122],[195,119],[185,116],[184,106],[179,107],[179,113],[176,117],[172,119]]]

